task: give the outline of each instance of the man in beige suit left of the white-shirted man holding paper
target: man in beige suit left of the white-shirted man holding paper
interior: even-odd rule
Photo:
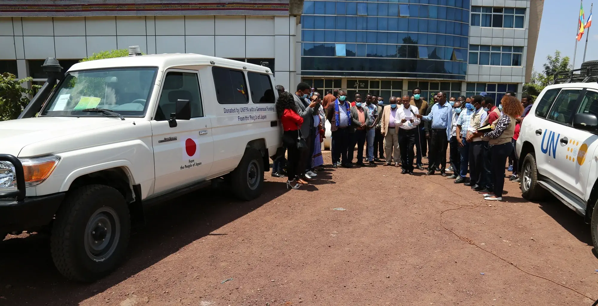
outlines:
[[[396,125],[396,116],[398,108],[396,107],[396,97],[390,97],[390,105],[386,105],[380,116],[380,133],[384,136],[386,162],[383,166],[390,166],[392,159],[395,160],[395,167],[399,166],[399,131]]]

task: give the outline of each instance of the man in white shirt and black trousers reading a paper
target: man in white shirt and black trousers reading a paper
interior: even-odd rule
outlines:
[[[416,117],[419,110],[411,105],[410,97],[405,95],[401,98],[402,107],[396,111],[395,126],[399,127],[399,148],[401,148],[402,175],[413,175],[413,146],[415,145],[416,133],[418,132],[420,120]]]

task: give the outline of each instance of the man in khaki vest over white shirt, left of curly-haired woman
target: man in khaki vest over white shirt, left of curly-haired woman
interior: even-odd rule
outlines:
[[[482,109],[483,100],[482,96],[474,96],[474,100],[471,102],[474,105],[475,112],[471,115],[471,122],[467,128],[466,136],[466,140],[469,142],[469,178],[471,178],[466,185],[471,186],[475,191],[480,191],[485,187],[478,185],[478,183],[483,182],[484,143],[487,145],[488,142],[484,142],[481,137],[474,135],[477,129],[483,126],[482,123],[487,117],[487,113]]]

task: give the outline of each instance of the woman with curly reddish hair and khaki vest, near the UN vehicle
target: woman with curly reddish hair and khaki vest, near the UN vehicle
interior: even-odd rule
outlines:
[[[489,137],[490,152],[492,152],[492,181],[493,192],[484,194],[484,200],[502,201],[502,191],[505,185],[505,164],[507,157],[513,151],[511,139],[515,133],[515,118],[523,114],[523,106],[515,96],[504,96],[501,100],[502,115],[492,123],[492,131],[484,133]],[[478,136],[482,133],[478,132]]]

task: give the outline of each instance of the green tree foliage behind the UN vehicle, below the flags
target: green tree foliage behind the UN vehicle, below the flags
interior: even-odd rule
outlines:
[[[561,57],[559,50],[554,51],[554,56],[548,55],[544,63],[544,71],[532,71],[532,77],[529,83],[523,85],[523,94],[529,94],[536,98],[542,92],[544,87],[553,84],[554,74],[556,72],[568,71],[573,69],[569,63],[569,57]]]

